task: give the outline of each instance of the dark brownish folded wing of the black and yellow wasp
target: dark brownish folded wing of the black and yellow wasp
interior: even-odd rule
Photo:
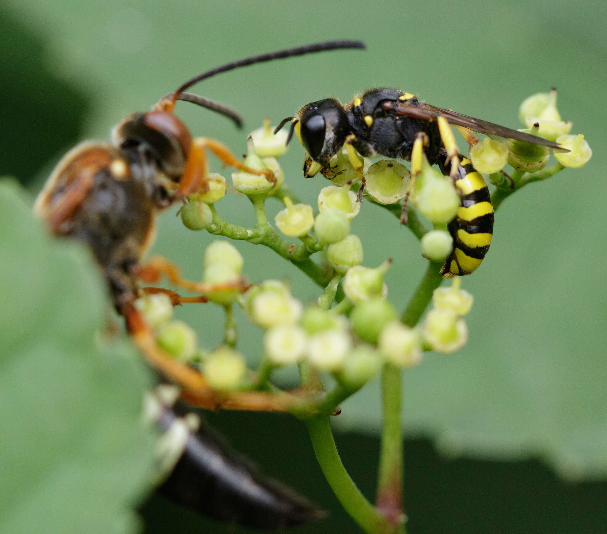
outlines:
[[[524,141],[526,143],[532,143],[534,145],[548,146],[551,152],[569,152],[568,149],[562,148],[560,145],[553,141],[543,139],[537,135],[526,134],[513,130],[512,128],[506,128],[506,126],[500,126],[480,118],[469,117],[468,115],[462,115],[456,113],[450,109],[437,108],[424,102],[416,102],[413,104],[407,104],[404,102],[390,101],[384,105],[384,109],[390,109],[399,115],[404,117],[413,117],[420,120],[433,121],[436,120],[436,115],[443,115],[447,119],[447,122],[453,125],[464,126],[475,132],[481,132],[481,134],[497,135],[498,137],[504,137],[506,139],[515,139],[517,141]]]

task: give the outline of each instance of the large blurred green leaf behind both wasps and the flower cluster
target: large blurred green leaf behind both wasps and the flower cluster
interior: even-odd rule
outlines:
[[[405,431],[435,437],[449,454],[543,455],[569,478],[607,474],[605,2],[506,0],[496,9],[470,0],[457,5],[456,16],[446,0],[388,0],[381,9],[362,0],[199,1],[180,9],[135,0],[126,13],[118,0],[7,4],[43,29],[57,72],[99,95],[87,129],[100,137],[196,72],[329,38],[363,38],[368,50],[236,70],[195,90],[236,106],[249,131],[265,115],[276,123],[304,103],[327,95],[347,101],[371,86],[401,87],[437,106],[519,128],[520,102],[557,86],[561,115],[586,135],[594,157],[580,171],[563,171],[504,202],[483,266],[463,281],[476,298],[469,344],[455,355],[430,355],[407,373]],[[133,32],[138,49],[128,41]],[[237,154],[245,149],[245,134],[224,118],[187,103],[177,113],[194,134],[217,137]],[[302,179],[302,157],[294,142],[280,161],[295,193],[314,205],[327,184]],[[270,215],[278,208],[272,203]],[[217,209],[230,222],[253,224],[243,197],[228,195]],[[160,217],[155,251],[200,278],[203,249],[213,238],[185,230],[174,211]],[[386,282],[402,309],[424,270],[418,243],[391,214],[366,204],[352,231],[365,264],[394,259]],[[270,250],[237,247],[252,281],[288,278],[294,295],[316,298],[314,284]],[[220,313],[183,306],[177,315],[197,328],[205,346],[220,343]],[[252,359],[261,353],[259,331],[245,324],[240,339]],[[335,418],[342,428],[378,430],[377,388],[363,389],[342,408]]]

